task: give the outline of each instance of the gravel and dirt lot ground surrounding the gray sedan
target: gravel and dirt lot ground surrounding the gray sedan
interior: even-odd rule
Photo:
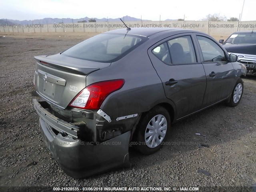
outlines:
[[[88,179],[64,174],[42,141],[33,109],[34,56],[55,54],[94,34],[0,38],[0,186],[252,186],[256,183],[256,77],[244,78],[236,108],[218,104],[172,126],[150,156],[130,149],[131,168]],[[201,133],[204,136],[198,136]],[[209,146],[198,148],[198,143]],[[209,176],[198,173],[206,170]]]

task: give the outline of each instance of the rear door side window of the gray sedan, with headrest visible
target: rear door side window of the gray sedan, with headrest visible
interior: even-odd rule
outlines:
[[[158,45],[152,53],[168,65],[196,63],[196,54],[190,36],[178,37]]]

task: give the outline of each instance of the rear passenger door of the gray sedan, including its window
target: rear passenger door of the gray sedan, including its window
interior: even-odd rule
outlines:
[[[198,62],[198,50],[191,36],[171,36],[148,49],[166,97],[176,105],[176,118],[199,110],[206,89],[204,68]]]

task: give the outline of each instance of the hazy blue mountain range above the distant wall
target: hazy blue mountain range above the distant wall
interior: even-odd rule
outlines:
[[[32,25],[32,24],[58,24],[58,23],[77,23],[78,21],[86,21],[89,22],[89,19],[95,19],[96,22],[107,22],[107,20],[109,22],[119,22],[120,19],[119,18],[102,18],[102,19],[98,19],[98,18],[88,18],[88,17],[84,17],[84,18],[80,18],[80,19],[72,19],[72,18],[44,18],[44,19],[35,19],[35,20],[12,20],[12,19],[7,19],[8,24],[22,24],[22,25]],[[122,20],[124,20],[124,22],[126,21],[140,21],[140,19],[138,18],[134,18],[134,17],[130,17],[130,16],[124,16],[121,17]],[[166,21],[170,21],[170,19],[166,19]],[[142,21],[151,21],[151,20],[142,20]],[[3,24],[7,24],[6,23],[6,19],[0,19],[0,25]]]

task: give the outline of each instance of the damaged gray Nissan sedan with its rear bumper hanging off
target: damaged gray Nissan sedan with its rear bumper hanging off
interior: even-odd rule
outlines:
[[[246,74],[212,37],[176,28],[114,30],[35,59],[42,137],[75,178],[129,166],[129,144],[152,154],[174,122],[236,106]]]

